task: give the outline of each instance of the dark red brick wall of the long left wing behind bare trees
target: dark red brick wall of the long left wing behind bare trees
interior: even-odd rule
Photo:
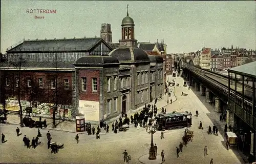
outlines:
[[[17,71],[1,71],[1,76],[6,76],[8,86],[1,89],[5,92],[7,99],[17,97],[16,78]],[[55,89],[51,88],[51,79],[57,77],[58,104],[72,105],[72,72],[47,72],[47,71],[22,71],[20,75],[20,98],[27,101],[38,101],[40,103],[55,103]],[[39,87],[39,78],[42,78],[43,86]],[[4,79],[4,78],[2,78]],[[28,86],[28,79],[30,87]],[[64,79],[68,79],[69,88],[65,89]],[[2,85],[5,85],[2,83]]]

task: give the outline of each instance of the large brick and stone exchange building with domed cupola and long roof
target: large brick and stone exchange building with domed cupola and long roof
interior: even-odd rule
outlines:
[[[57,101],[61,115],[83,113],[87,121],[99,121],[161,97],[163,58],[137,48],[128,12],[121,26],[114,50],[102,38],[24,40],[9,48],[0,63],[1,93],[8,93],[1,103],[18,110],[19,85],[22,106],[33,113],[51,114]]]

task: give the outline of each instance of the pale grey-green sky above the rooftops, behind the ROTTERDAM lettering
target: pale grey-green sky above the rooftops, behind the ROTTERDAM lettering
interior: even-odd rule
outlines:
[[[113,43],[126,16],[135,22],[138,42],[160,42],[167,53],[240,47],[256,49],[255,1],[1,1],[1,52],[25,39],[100,36],[111,24]],[[52,9],[56,13],[27,13]],[[44,16],[44,18],[35,18]]]

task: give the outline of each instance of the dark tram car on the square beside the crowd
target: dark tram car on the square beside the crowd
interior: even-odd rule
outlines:
[[[190,127],[192,125],[191,116],[191,112],[158,114],[156,116],[158,130],[162,131]]]

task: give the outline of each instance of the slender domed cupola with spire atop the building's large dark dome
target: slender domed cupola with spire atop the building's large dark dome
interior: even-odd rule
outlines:
[[[135,47],[137,48],[137,40],[134,38],[134,21],[129,16],[127,5],[127,15],[122,20],[122,39],[119,40],[119,47]]]

